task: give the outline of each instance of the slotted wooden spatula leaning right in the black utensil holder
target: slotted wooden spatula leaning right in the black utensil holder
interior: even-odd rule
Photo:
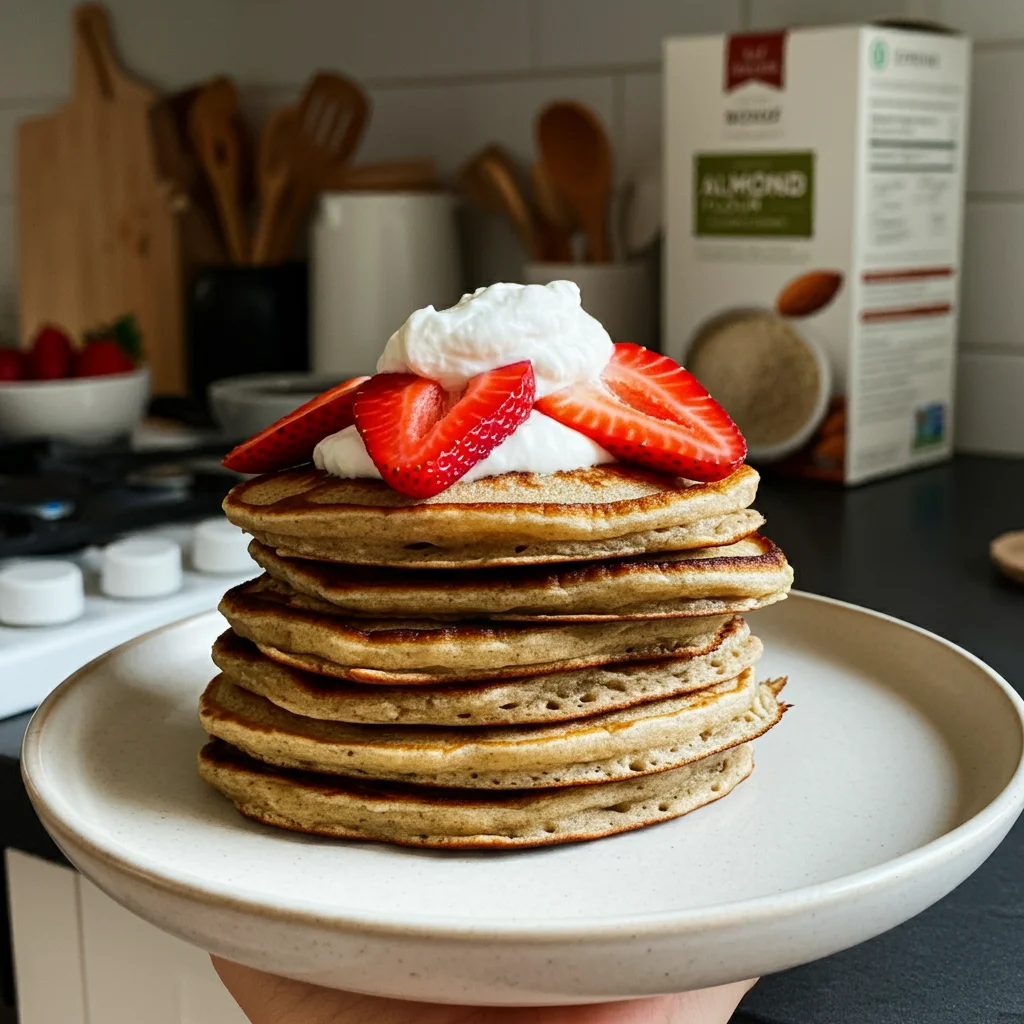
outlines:
[[[370,99],[355,83],[321,72],[306,86],[296,112],[290,153],[293,189],[275,253],[292,251],[309,207],[318,191],[330,187],[355,152],[370,118]]]

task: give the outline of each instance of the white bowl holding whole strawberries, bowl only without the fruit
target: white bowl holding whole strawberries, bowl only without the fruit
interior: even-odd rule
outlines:
[[[130,433],[145,414],[150,371],[108,377],[0,382],[0,437],[96,444]]]

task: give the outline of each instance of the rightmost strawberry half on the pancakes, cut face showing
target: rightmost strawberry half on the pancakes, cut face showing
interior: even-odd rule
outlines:
[[[739,428],[697,379],[640,345],[615,345],[599,383],[563,388],[537,408],[616,459],[691,480],[721,480],[746,455]]]

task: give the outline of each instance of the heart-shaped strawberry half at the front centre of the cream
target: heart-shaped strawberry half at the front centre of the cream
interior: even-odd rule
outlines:
[[[431,498],[529,416],[535,393],[528,359],[478,374],[458,396],[414,374],[378,374],[355,396],[355,425],[386,483]]]

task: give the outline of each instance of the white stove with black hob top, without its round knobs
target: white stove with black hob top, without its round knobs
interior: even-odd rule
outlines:
[[[0,719],[36,707],[112,647],[212,611],[226,590],[258,574],[255,562],[203,571],[193,556],[196,524],[223,520],[221,501],[239,479],[220,466],[229,447],[217,437],[173,431],[102,449],[0,443],[0,572],[25,562],[71,562],[83,592],[73,621],[0,620]],[[180,581],[158,597],[112,596],[103,586],[103,549],[140,538],[177,546]]]

